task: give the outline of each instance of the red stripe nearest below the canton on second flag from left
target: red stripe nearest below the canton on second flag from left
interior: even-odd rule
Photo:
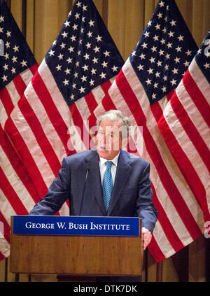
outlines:
[[[50,121],[52,122],[53,127],[55,128],[59,138],[61,139],[64,145],[66,154],[68,154],[69,152],[67,148],[67,143],[69,140],[68,127],[66,126],[66,123],[62,119],[62,115],[57,110],[57,107],[55,106],[55,103],[52,100],[52,97],[50,96],[50,92],[48,91],[48,88],[45,86],[45,83],[43,82],[38,72],[36,72],[36,74],[32,78],[31,83],[34,87],[36,94],[38,95],[38,98],[43,104],[45,111],[48,114]],[[66,105],[66,108],[68,108],[67,105]]]

